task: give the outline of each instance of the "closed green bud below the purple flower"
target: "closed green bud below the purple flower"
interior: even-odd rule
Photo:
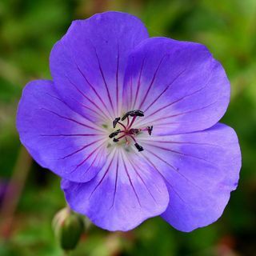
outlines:
[[[63,250],[74,250],[84,227],[82,216],[68,207],[58,211],[53,220],[54,234]]]

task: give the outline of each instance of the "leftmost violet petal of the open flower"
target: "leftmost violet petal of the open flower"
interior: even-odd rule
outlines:
[[[51,81],[37,80],[25,87],[17,128],[33,158],[62,178],[86,182],[97,174],[106,158],[106,132],[90,118],[71,110]]]

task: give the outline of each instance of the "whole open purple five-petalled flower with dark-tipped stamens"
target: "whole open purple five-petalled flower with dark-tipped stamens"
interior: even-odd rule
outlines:
[[[205,46],[149,38],[138,18],[107,12],[72,23],[50,71],[24,89],[17,126],[73,210],[106,230],[160,215],[191,231],[221,216],[241,154],[218,123],[230,83]]]

